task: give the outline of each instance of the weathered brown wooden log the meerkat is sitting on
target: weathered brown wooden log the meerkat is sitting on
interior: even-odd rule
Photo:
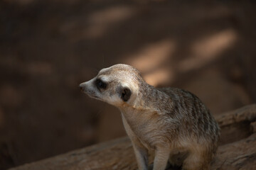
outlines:
[[[220,147],[211,169],[256,169],[256,105],[245,106],[216,118]],[[137,169],[131,142],[123,137],[67,154],[61,154],[11,170]]]

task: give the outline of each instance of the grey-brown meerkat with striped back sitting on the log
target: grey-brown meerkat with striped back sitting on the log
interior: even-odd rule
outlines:
[[[154,152],[154,170],[176,164],[186,170],[208,170],[220,128],[201,100],[176,88],[155,88],[127,64],[100,70],[80,84],[82,92],[110,103],[122,113],[139,170],[149,169],[148,153]]]

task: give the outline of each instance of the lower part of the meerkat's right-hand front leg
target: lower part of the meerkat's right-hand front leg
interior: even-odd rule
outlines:
[[[164,169],[166,169],[169,157],[170,157],[169,149],[166,149],[166,148],[163,148],[163,147],[156,148],[153,170],[164,170]]]

